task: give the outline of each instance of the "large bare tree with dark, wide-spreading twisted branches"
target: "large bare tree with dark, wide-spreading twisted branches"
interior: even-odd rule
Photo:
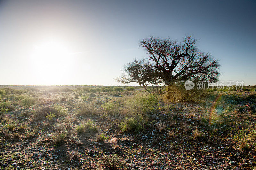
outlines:
[[[148,60],[154,63],[155,73],[168,86],[168,98],[172,97],[171,87],[186,80],[216,81],[219,76],[219,61],[212,53],[204,53],[196,46],[198,40],[185,36],[178,43],[171,39],[149,37],[140,40],[148,53]]]

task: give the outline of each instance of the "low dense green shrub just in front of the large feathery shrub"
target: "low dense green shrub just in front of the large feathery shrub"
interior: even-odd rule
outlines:
[[[140,116],[126,118],[121,122],[121,130],[125,131],[143,131],[149,125],[147,119]]]

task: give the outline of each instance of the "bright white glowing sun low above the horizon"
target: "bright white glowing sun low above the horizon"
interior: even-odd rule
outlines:
[[[34,45],[31,55],[36,84],[58,85],[67,77],[72,62],[68,46],[58,41]],[[65,76],[64,76],[65,75]]]

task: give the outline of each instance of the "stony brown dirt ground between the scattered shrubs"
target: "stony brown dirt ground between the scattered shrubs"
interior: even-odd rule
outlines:
[[[24,94],[5,94],[1,99],[9,101],[13,109],[0,120],[0,169],[103,169],[99,160],[106,154],[121,156],[126,163],[124,169],[255,169],[255,149],[240,149],[232,137],[236,124],[255,123],[255,98],[246,98],[255,93],[254,86],[247,87],[248,91],[216,91],[212,98],[193,103],[166,104],[160,100],[156,111],[148,113],[150,125],[140,132],[121,131],[120,123],[127,116],[122,104],[120,112],[114,115],[106,114],[100,107],[108,101],[123,103],[127,97],[146,93],[143,90],[129,94],[124,94],[124,90],[118,96],[113,96],[117,92],[95,92],[90,101],[84,101],[82,96],[90,92],[78,95],[77,87],[68,87],[66,91],[52,87],[9,88],[26,90]],[[221,112],[221,118],[213,119],[209,114],[213,114],[211,107],[218,94],[222,97],[214,114]],[[19,100],[22,95],[36,98],[36,104],[24,107]],[[99,112],[77,115],[76,104],[81,102],[93,102]],[[51,122],[46,118],[31,119],[37,109],[55,104],[66,109],[65,116],[56,116]],[[202,119],[204,114],[208,114],[208,119]],[[56,125],[63,120],[70,122],[71,132],[56,144]],[[88,120],[95,123],[98,131],[77,133],[76,127]],[[11,121],[16,122],[15,127],[6,130]],[[157,128],[158,124],[164,128]],[[187,131],[182,128],[184,124],[189,127]],[[20,128],[21,125],[26,127]],[[191,130],[195,128],[203,134],[196,140]],[[107,136],[104,142],[97,142],[99,132]]]

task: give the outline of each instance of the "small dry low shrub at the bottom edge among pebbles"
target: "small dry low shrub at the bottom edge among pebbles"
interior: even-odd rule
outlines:
[[[122,169],[125,166],[125,161],[122,157],[116,154],[104,155],[99,161],[99,164],[107,170]]]

